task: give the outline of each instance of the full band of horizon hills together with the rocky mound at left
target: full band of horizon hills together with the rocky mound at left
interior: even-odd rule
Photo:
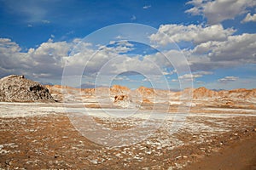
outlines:
[[[87,86],[88,87],[88,86]],[[0,79],[0,101],[7,102],[90,102],[106,101],[108,105],[122,104],[163,104],[239,107],[256,109],[256,88],[211,90],[204,87],[186,88],[183,91],[171,91],[140,87],[130,89],[113,85],[97,88],[71,88],[61,85],[42,85],[24,76],[11,75]],[[108,101],[108,102],[107,102]],[[125,103],[126,102],[126,103]]]

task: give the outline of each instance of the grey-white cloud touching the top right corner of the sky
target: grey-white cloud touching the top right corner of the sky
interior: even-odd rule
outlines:
[[[192,0],[187,4],[193,7],[186,10],[186,13],[202,15],[210,25],[234,19],[237,15],[246,13],[247,8],[256,6],[254,0]]]

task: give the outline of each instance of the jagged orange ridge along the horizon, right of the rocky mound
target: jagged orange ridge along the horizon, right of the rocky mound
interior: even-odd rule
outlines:
[[[232,90],[221,90],[214,91],[205,87],[201,88],[186,88],[183,91],[173,92],[170,90],[160,90],[154,88],[140,87],[134,90],[130,88],[113,85],[110,88],[71,88],[62,87],[61,85],[47,85],[50,92],[56,92],[64,90],[67,94],[81,94],[83,98],[93,98],[93,96],[109,96],[110,98],[119,99],[120,95],[127,95],[131,99],[140,98],[141,101],[149,102],[163,102],[167,100],[170,103],[178,100],[189,100],[191,99],[195,104],[201,103],[200,105],[247,105],[251,103],[256,104],[256,88],[246,89],[237,88]],[[59,93],[61,94],[61,93]],[[190,97],[189,97],[190,96]],[[182,98],[183,97],[183,98]],[[205,102],[207,101],[207,102]],[[254,106],[253,106],[254,107]],[[256,105],[255,105],[256,107]]]

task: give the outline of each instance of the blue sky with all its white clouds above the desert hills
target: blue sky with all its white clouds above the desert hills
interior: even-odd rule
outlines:
[[[254,0],[0,0],[0,77],[256,88]]]

